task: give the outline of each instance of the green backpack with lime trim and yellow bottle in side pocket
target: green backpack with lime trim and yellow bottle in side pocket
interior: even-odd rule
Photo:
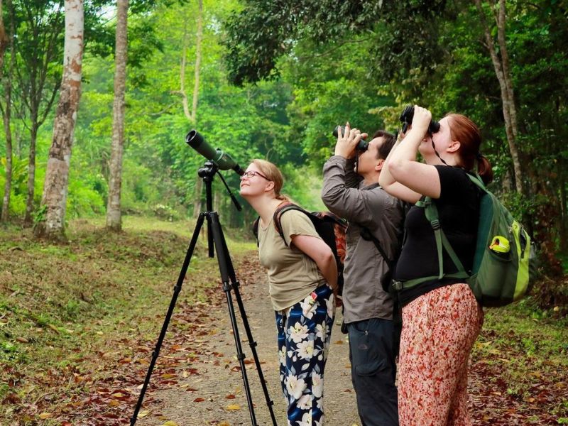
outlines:
[[[436,204],[430,197],[416,203],[424,207],[426,219],[435,233],[439,275],[393,281],[395,290],[415,287],[426,281],[442,278],[464,278],[482,306],[496,307],[519,300],[528,289],[529,273],[535,268],[535,250],[521,224],[499,200],[489,192],[479,176],[469,178],[484,192],[479,206],[479,225],[474,263],[471,272],[465,271],[438,220]],[[457,273],[444,274],[442,249],[457,266]]]

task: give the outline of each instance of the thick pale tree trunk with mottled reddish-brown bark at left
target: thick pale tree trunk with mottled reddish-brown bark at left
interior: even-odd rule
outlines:
[[[69,164],[81,97],[83,28],[83,0],[65,0],[63,77],[43,184],[41,217],[34,229],[36,237],[51,240],[65,239]]]

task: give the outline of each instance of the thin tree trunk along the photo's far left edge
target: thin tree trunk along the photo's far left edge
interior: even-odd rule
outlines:
[[[11,11],[11,2],[8,0],[8,7]],[[2,76],[4,80],[4,92],[6,99],[6,107],[2,109],[2,121],[4,123],[4,134],[6,136],[6,182],[4,182],[4,198],[2,200],[2,212],[0,213],[0,222],[8,222],[10,214],[10,192],[12,190],[12,132],[10,130],[10,113],[11,113],[11,94],[12,84],[11,75],[13,70],[13,19],[11,19],[10,37],[6,34],[4,27],[4,11],[3,2],[0,0],[0,72],[4,69],[4,54],[6,48],[10,45],[10,68],[7,76]]]

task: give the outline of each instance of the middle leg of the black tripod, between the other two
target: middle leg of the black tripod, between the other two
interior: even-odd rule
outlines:
[[[208,212],[211,220],[209,224],[213,232],[213,241],[215,246],[215,251],[217,253],[217,262],[219,263],[219,272],[221,273],[221,280],[223,283],[223,291],[226,295],[226,303],[229,307],[229,317],[231,318],[231,327],[233,328],[233,337],[235,339],[236,346],[236,358],[239,360],[241,366],[241,375],[243,376],[244,391],[246,394],[246,402],[249,404],[249,414],[251,415],[251,422],[253,426],[258,426],[256,422],[256,417],[254,415],[253,400],[251,396],[251,387],[249,386],[249,378],[246,376],[246,366],[244,364],[245,354],[241,346],[241,338],[239,337],[239,327],[236,324],[235,310],[233,306],[233,300],[231,298],[231,283],[229,282],[229,270],[233,269],[231,258],[228,256],[228,252],[224,250],[226,243],[224,241],[224,236],[221,230],[221,224],[219,223],[219,216],[217,212]],[[233,271],[234,275],[234,271]]]

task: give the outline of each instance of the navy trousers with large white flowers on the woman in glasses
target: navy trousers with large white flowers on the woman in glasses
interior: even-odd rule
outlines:
[[[329,285],[276,312],[280,383],[288,403],[288,426],[324,424],[324,368],[335,303]]]

